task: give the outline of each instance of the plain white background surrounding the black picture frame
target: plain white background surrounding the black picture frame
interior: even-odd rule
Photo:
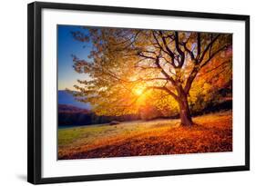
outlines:
[[[251,15],[251,95],[256,93],[256,64],[253,63],[256,60],[253,53],[256,46],[256,12],[252,0],[55,1]],[[29,185],[26,182],[26,4],[30,2],[5,0],[0,5],[0,185]],[[251,171],[61,185],[253,185],[256,176],[255,105],[255,96],[251,96]]]

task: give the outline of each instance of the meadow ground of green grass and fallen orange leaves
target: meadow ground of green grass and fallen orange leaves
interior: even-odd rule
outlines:
[[[193,127],[179,120],[122,122],[59,129],[58,159],[232,151],[232,112],[193,118]]]

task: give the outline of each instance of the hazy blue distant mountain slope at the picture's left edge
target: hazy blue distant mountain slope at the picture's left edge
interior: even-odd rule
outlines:
[[[58,91],[58,104],[66,104],[70,106],[74,106],[81,109],[91,109],[91,105],[89,103],[81,103],[78,102],[72,93],[67,93],[67,91]]]

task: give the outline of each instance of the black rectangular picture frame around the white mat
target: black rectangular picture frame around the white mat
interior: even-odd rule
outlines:
[[[245,164],[240,166],[210,167],[200,169],[185,169],[175,171],[143,171],[111,173],[99,175],[81,175],[42,178],[42,74],[41,74],[41,24],[42,9],[62,9],[77,11],[111,12],[138,15],[166,15],[176,17],[195,17],[209,19],[239,20],[245,22]],[[59,3],[35,2],[27,6],[27,181],[34,184],[56,183],[69,181],[99,181],[112,179],[128,179],[140,177],[169,176],[180,174],[210,173],[223,171],[250,170],[250,16],[209,14],[198,12],[170,11],[157,9],[142,9],[130,7],[114,7],[100,5],[74,5]]]

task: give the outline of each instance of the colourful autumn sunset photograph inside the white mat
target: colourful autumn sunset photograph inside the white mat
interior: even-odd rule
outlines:
[[[233,151],[232,33],[56,34],[57,160]]]

